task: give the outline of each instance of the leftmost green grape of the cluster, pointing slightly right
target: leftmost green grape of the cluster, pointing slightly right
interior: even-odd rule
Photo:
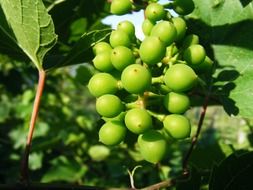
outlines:
[[[114,94],[118,90],[118,81],[108,73],[97,73],[89,80],[88,89],[95,97]]]

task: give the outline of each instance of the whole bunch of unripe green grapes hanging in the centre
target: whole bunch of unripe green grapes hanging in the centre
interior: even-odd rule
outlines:
[[[111,12],[125,14],[131,7],[129,0],[112,0]],[[118,145],[130,131],[138,135],[143,158],[157,163],[166,155],[166,136],[190,136],[185,116],[191,105],[189,92],[198,85],[198,75],[210,72],[212,61],[198,36],[187,33],[185,20],[172,17],[158,3],[147,5],[142,30],[145,38],[139,41],[134,25],[122,21],[109,41],[93,47],[98,72],[88,89],[105,121],[99,141]]]

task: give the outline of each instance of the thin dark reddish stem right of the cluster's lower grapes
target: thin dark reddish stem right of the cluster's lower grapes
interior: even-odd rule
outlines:
[[[190,156],[192,154],[192,151],[193,151],[193,149],[195,148],[195,146],[198,142],[198,137],[199,137],[199,134],[201,132],[203,122],[204,122],[204,119],[205,119],[205,115],[206,115],[208,101],[209,101],[209,94],[207,94],[206,97],[205,97],[204,104],[202,106],[202,110],[201,110],[201,113],[200,113],[200,118],[199,118],[199,122],[198,122],[198,126],[197,126],[197,131],[196,131],[195,135],[192,138],[191,146],[188,149],[188,152],[186,153],[185,158],[183,160],[183,166],[182,166],[183,167],[183,175],[186,175],[186,176],[189,174],[188,162],[189,162]]]

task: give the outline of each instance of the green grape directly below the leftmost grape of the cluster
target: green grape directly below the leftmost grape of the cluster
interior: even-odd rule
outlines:
[[[115,117],[123,111],[123,108],[121,100],[112,94],[102,95],[96,101],[96,110],[104,117]]]

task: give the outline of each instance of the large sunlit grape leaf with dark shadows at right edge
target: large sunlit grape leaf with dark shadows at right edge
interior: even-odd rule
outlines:
[[[195,0],[189,30],[200,36],[221,69],[217,94],[229,115],[253,117],[253,3]],[[210,45],[210,46],[209,46]],[[237,73],[235,77],[224,72]],[[229,72],[226,72],[227,74]],[[227,78],[222,83],[219,78]],[[217,81],[218,80],[218,81]]]

